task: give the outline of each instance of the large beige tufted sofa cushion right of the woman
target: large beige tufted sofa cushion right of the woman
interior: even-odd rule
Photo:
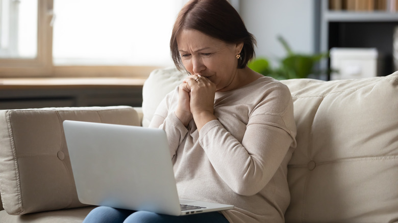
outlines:
[[[286,222],[398,219],[398,72],[283,83],[297,125]]]

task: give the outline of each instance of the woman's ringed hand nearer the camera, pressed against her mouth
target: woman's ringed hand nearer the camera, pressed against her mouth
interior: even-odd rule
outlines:
[[[190,92],[189,110],[195,120],[197,129],[201,130],[206,123],[217,119],[214,116],[216,86],[208,78],[201,75],[190,75],[184,79],[182,85],[184,85],[184,90]]]

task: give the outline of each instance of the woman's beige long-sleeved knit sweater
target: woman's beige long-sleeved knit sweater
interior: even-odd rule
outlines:
[[[234,205],[231,223],[283,222],[290,202],[287,163],[296,127],[288,88],[270,77],[216,92],[214,115],[200,132],[175,116],[178,88],[159,105],[150,127],[166,131],[181,199]]]

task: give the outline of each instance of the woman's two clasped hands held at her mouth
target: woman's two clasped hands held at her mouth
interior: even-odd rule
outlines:
[[[207,122],[215,120],[215,91],[215,84],[204,76],[186,77],[179,87],[178,106],[175,111],[177,118],[185,126],[194,119],[198,130]]]

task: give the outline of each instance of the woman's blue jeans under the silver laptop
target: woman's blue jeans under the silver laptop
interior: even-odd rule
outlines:
[[[124,222],[124,223],[229,223],[227,218],[218,212],[171,216],[148,211],[131,211],[111,207],[94,208],[84,219],[83,223]]]

